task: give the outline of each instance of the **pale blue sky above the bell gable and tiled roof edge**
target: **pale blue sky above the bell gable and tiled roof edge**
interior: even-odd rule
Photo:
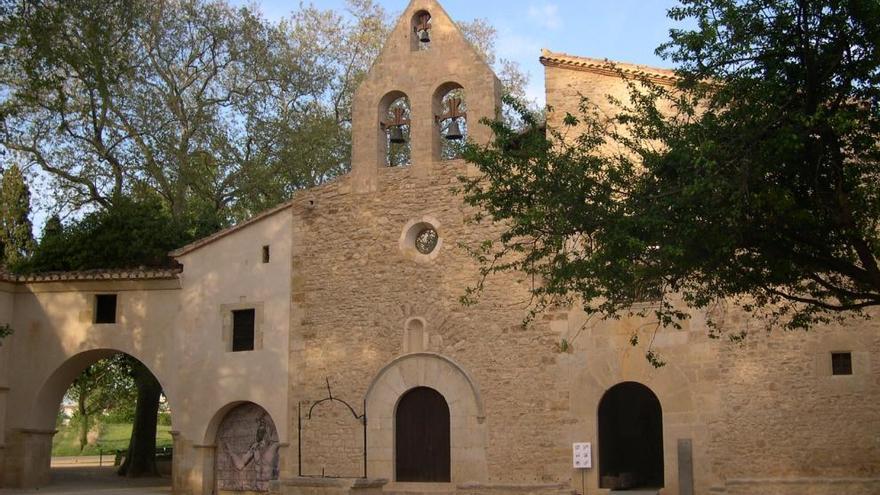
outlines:
[[[252,4],[269,19],[298,8],[296,0],[229,0]],[[396,16],[409,0],[378,0]],[[309,3],[309,2],[306,2]],[[343,10],[345,0],[315,0],[321,8]],[[621,62],[666,67],[654,49],[675,24],[666,10],[676,0],[441,0],[453,19],[486,18],[498,30],[498,56],[519,62],[530,75],[529,97],[543,103],[541,48]]]

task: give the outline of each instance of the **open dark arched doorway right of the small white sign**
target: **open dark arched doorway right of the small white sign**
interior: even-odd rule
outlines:
[[[661,488],[663,412],[648,387],[619,383],[599,402],[599,487]]]

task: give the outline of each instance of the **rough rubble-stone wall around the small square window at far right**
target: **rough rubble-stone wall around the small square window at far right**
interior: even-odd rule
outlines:
[[[762,482],[793,490],[797,480],[816,493],[844,482],[852,493],[877,493],[878,330],[852,320],[811,332],[756,329],[742,345],[719,344],[724,394],[709,455],[732,493]],[[852,352],[852,375],[832,376],[837,351]]]

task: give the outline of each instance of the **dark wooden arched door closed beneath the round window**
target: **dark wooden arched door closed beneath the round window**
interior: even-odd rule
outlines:
[[[448,482],[449,406],[432,388],[410,390],[395,416],[397,481]]]

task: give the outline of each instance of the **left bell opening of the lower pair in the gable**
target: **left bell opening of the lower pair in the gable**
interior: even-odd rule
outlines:
[[[387,167],[412,163],[410,108],[409,98],[400,91],[388,93],[379,103],[379,154]]]

